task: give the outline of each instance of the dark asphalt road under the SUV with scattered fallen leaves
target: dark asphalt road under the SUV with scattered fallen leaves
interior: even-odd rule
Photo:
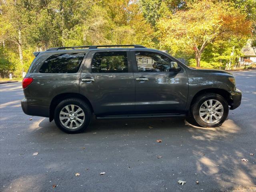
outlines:
[[[234,74],[242,104],[218,128],[180,118],[93,120],[73,135],[25,115],[20,82],[1,84],[0,191],[255,190],[256,71]]]

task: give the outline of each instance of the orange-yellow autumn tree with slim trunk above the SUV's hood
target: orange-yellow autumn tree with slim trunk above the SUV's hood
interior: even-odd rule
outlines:
[[[202,53],[208,44],[248,36],[252,22],[227,2],[202,0],[189,2],[186,10],[177,11],[172,18],[161,18],[157,28],[164,47],[174,52],[172,46],[194,50],[196,64],[200,67]]]

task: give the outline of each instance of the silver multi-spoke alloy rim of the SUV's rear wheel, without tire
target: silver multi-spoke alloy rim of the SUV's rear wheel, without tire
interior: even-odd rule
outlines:
[[[68,129],[77,129],[84,123],[85,114],[77,105],[67,105],[60,110],[60,122]]]

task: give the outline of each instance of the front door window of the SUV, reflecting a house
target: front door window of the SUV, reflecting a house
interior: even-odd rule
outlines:
[[[138,72],[169,72],[174,68],[180,68],[176,61],[153,52],[136,51]]]

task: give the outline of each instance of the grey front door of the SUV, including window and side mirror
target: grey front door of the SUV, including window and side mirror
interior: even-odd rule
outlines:
[[[136,113],[184,112],[188,96],[186,70],[153,50],[132,50]],[[180,71],[177,72],[177,69]]]

